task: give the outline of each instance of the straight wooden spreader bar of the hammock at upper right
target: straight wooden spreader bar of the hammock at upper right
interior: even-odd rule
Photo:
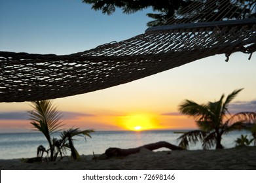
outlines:
[[[187,24],[174,24],[174,25],[162,25],[157,27],[149,27],[146,32],[150,31],[166,31],[166,30],[180,30],[180,29],[202,29],[202,28],[214,28],[214,27],[242,27],[244,25],[256,24],[256,18],[242,19],[242,20],[227,20],[227,21],[216,21],[216,22],[198,22],[198,23],[187,23]]]

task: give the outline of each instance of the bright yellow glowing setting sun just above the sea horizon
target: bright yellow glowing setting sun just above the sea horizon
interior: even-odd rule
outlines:
[[[158,128],[156,117],[153,114],[130,114],[120,116],[119,125],[124,129],[132,131]]]

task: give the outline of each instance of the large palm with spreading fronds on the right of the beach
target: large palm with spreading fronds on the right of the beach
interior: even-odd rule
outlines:
[[[223,148],[221,144],[222,135],[235,129],[242,129],[244,123],[256,118],[255,112],[239,112],[230,114],[228,105],[241,92],[242,89],[234,90],[224,100],[225,95],[221,96],[219,101],[208,102],[199,105],[194,101],[185,100],[179,105],[179,111],[194,118],[199,129],[184,133],[179,140],[179,146],[187,148],[189,142],[202,142],[204,149]]]

